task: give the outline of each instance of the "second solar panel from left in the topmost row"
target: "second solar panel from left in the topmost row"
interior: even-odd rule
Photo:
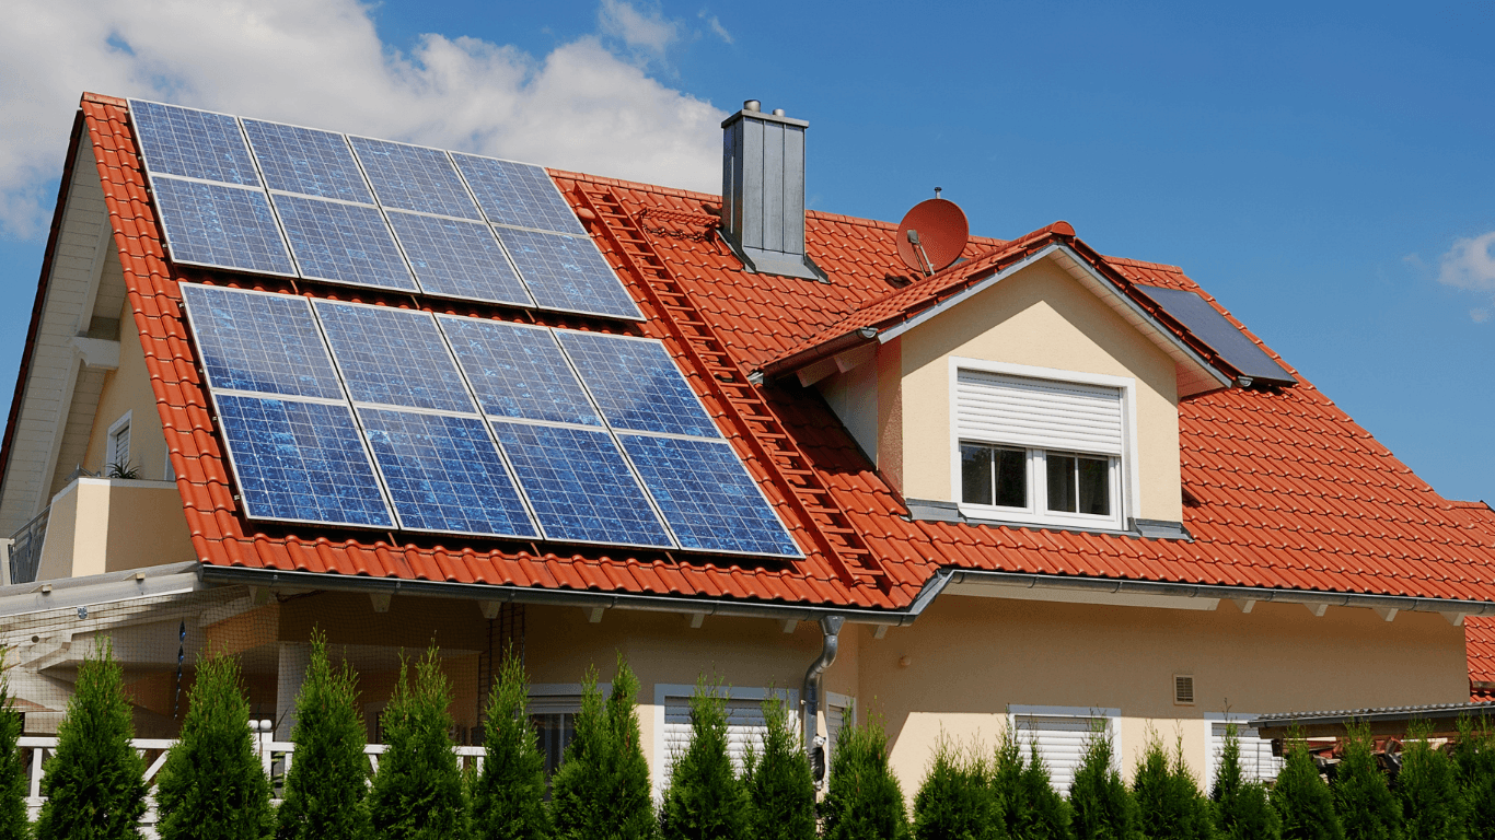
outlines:
[[[260,120],[245,120],[244,133],[271,190],[374,203],[342,135]]]

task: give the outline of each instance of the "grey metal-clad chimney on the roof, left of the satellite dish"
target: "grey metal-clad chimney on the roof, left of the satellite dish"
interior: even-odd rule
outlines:
[[[722,123],[722,235],[748,271],[825,281],[804,253],[804,130],[756,99]]]

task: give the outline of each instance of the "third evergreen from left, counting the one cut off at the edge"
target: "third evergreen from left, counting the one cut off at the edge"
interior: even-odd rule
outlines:
[[[271,780],[254,753],[238,659],[220,653],[197,664],[155,806],[161,840],[253,840],[275,833]]]

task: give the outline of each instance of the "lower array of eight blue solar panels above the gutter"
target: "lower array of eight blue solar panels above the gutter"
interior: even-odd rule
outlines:
[[[251,519],[801,556],[658,341],[182,299]]]

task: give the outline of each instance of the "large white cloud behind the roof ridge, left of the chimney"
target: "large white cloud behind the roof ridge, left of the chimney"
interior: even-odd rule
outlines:
[[[384,45],[357,0],[19,0],[0,27],[0,230],[36,236],[82,91],[158,99],[704,191],[725,114],[582,37],[535,58],[428,34]],[[674,24],[604,0],[631,48]],[[55,194],[55,193],[54,193]]]

